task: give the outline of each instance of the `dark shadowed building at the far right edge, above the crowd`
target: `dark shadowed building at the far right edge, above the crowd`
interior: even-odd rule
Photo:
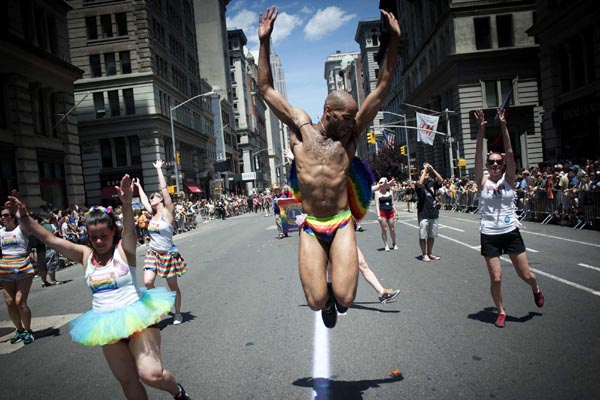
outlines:
[[[600,7],[538,1],[529,33],[539,43],[545,158],[600,158]]]

